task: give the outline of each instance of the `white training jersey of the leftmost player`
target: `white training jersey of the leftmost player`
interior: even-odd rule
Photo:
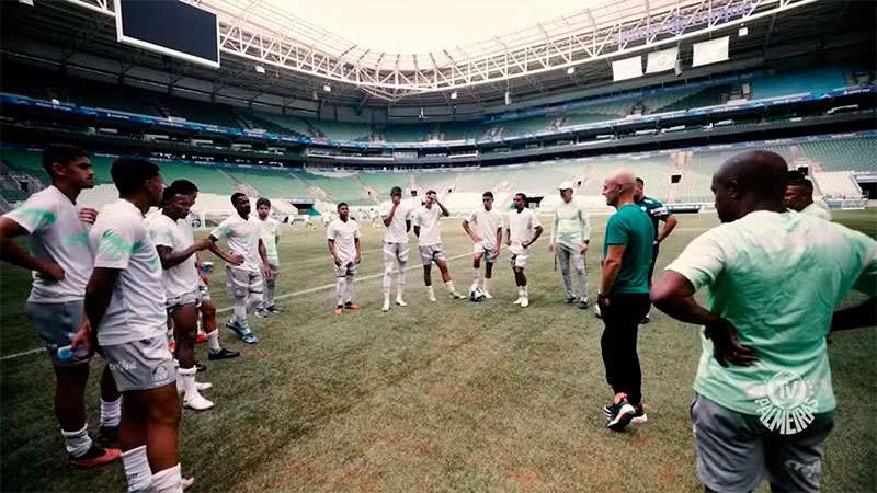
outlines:
[[[58,282],[45,280],[34,273],[27,301],[59,303],[83,299],[94,259],[87,226],[79,220],[76,204],[49,186],[3,217],[27,231],[34,257],[54,262],[64,270],[64,279]]]

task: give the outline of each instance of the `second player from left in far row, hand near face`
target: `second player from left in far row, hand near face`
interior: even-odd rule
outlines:
[[[392,267],[397,267],[396,305],[407,306],[402,299],[405,293],[405,266],[408,264],[408,231],[411,230],[411,203],[402,200],[402,188],[394,186],[390,202],[380,206],[384,218],[384,306],[383,311],[390,309],[390,287],[392,286]]]

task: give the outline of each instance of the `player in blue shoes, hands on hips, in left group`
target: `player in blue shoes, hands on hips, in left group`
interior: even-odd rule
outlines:
[[[252,333],[247,323],[247,314],[255,310],[262,302],[262,276],[272,278],[274,273],[267,263],[267,253],[262,243],[262,227],[250,219],[250,199],[247,194],[231,194],[235,214],[226,218],[210,232],[210,241],[215,254],[226,261],[226,286],[228,297],[235,300],[235,314],[226,326],[235,331],[247,344],[257,344],[259,337]],[[216,242],[226,239],[231,254],[226,254],[216,246]]]

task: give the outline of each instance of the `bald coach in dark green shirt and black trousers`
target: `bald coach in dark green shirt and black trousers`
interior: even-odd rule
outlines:
[[[603,316],[601,348],[606,381],[615,397],[606,405],[606,426],[622,431],[631,421],[645,422],[642,375],[637,355],[639,321],[649,310],[649,266],[654,228],[649,216],[634,204],[633,171],[613,173],[603,184],[606,204],[617,211],[606,223],[600,295]]]

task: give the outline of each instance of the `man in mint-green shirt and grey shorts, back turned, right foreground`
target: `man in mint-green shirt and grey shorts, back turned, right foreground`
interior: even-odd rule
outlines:
[[[851,288],[877,295],[877,242],[784,204],[773,152],[713,177],[722,225],[695,239],[654,285],[656,307],[704,325],[692,405],[707,490],[818,491],[835,406],[825,335],[877,323],[875,298],[833,312]],[[707,287],[707,307],[694,293]]]

